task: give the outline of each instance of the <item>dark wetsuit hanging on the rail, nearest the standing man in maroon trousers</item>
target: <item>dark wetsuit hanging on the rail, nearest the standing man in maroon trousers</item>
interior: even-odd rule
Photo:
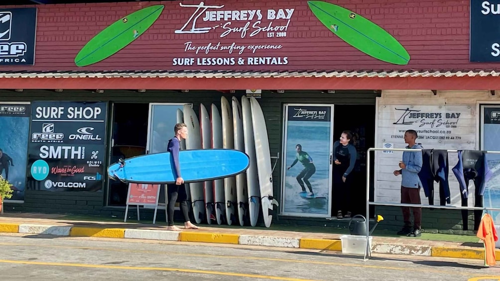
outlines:
[[[439,183],[439,204],[450,204],[448,184],[448,152],[440,149],[422,149],[422,169],[418,173],[429,205],[434,205],[434,181]]]

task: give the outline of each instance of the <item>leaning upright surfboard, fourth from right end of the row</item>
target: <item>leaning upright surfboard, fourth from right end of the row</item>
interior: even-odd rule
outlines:
[[[234,130],[232,125],[232,111],[227,99],[220,98],[220,115],[222,116],[222,147],[234,149]],[[225,218],[228,225],[236,222],[236,178],[224,178]]]

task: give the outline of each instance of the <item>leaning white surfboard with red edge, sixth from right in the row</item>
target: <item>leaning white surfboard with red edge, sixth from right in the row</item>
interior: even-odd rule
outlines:
[[[200,136],[201,136],[201,148],[209,149],[211,148],[211,125],[210,116],[206,107],[201,103],[199,105],[199,119],[200,119]],[[203,198],[205,200],[205,215],[206,223],[211,225],[213,216],[213,181],[203,182]]]

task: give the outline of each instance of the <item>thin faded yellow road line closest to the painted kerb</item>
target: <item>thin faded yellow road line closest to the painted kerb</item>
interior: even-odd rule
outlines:
[[[188,253],[178,253],[178,252],[165,252],[165,251],[150,251],[150,250],[129,250],[129,249],[115,249],[115,248],[104,248],[104,247],[76,247],[76,246],[54,246],[54,245],[40,245],[40,244],[29,244],[29,243],[0,243],[0,245],[8,246],[12,250],[12,246],[24,246],[24,247],[45,247],[45,248],[61,248],[61,249],[84,249],[84,250],[94,250],[94,251],[109,251],[109,252],[130,252],[130,253],[148,253],[148,254],[164,254],[169,256],[186,256],[186,257],[200,257],[200,258],[211,258],[211,259],[232,259],[232,260],[256,260],[256,261],[272,261],[272,262],[283,262],[283,263],[297,263],[297,264],[310,264],[310,265],[328,265],[328,266],[343,266],[343,267],[353,267],[353,268],[368,268],[377,270],[394,270],[394,271],[407,271],[407,272],[425,272],[425,273],[439,273],[447,275],[458,275],[458,276],[470,276],[468,273],[460,273],[456,271],[443,271],[443,270],[433,270],[433,269],[409,269],[407,267],[383,267],[383,266],[368,266],[365,264],[348,264],[348,263],[333,263],[333,262],[322,262],[322,261],[307,261],[307,260],[291,260],[291,259],[277,259],[277,258],[262,258],[262,257],[248,257],[248,256],[218,256],[212,254],[188,254]]]

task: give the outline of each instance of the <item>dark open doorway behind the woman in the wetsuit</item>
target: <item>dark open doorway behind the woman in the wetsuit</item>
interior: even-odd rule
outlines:
[[[352,118],[355,112],[362,112],[359,114],[362,117]],[[351,175],[351,212],[352,215],[365,214],[366,151],[375,145],[375,105],[335,105],[333,116],[333,141],[338,140],[345,130],[350,130],[355,138],[357,161]],[[337,210],[335,200],[332,203],[331,210]],[[332,214],[335,215],[336,211]]]

